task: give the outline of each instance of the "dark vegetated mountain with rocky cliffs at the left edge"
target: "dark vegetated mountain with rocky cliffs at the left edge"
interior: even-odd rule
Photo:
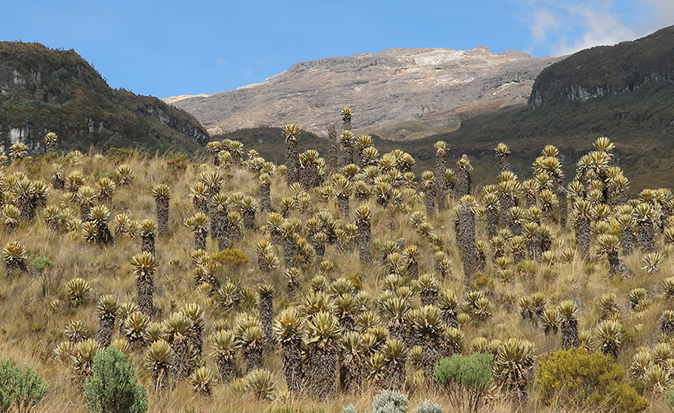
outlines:
[[[74,50],[0,42],[0,144],[41,152],[48,131],[61,149],[194,150],[209,139],[181,109],[112,89]]]

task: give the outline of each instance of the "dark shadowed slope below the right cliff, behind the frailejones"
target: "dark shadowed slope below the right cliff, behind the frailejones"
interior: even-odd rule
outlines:
[[[354,113],[354,122],[358,121]],[[480,162],[474,180],[483,184],[498,173],[499,163],[494,147],[507,142],[512,151],[510,165],[523,175],[531,168],[531,160],[541,147],[555,145],[561,152],[567,179],[573,175],[576,161],[588,151],[589,143],[599,136],[608,136],[618,147],[614,151],[617,165],[629,173],[631,189],[638,192],[657,185],[671,187],[674,182],[674,84],[649,83],[626,94],[581,100],[561,100],[531,109],[527,105],[506,107],[461,122],[461,127],[444,134],[420,140],[397,141],[374,136],[374,145],[381,153],[400,148],[417,161],[417,174],[435,167],[437,140],[448,143],[448,167],[466,153]],[[239,139],[246,147],[253,146],[261,156],[284,162],[284,139],[280,128],[243,129],[215,136],[217,139]],[[327,138],[303,132],[298,148],[318,149],[327,158]]]

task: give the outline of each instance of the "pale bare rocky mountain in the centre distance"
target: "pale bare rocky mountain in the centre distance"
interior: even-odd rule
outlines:
[[[525,103],[534,78],[558,59],[508,50],[388,49],[297,63],[290,70],[210,96],[173,96],[210,134],[296,123],[325,134],[340,109],[354,109],[354,130],[409,121],[446,125]]]

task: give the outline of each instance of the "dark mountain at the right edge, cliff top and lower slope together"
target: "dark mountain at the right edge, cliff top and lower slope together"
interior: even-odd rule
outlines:
[[[418,144],[446,140],[453,156],[466,152],[485,158],[481,162],[488,162],[491,171],[483,173],[495,174],[493,148],[506,142],[511,165],[521,176],[530,176],[532,156],[541,145],[552,144],[571,178],[591,142],[607,136],[616,143],[615,163],[631,177],[633,191],[673,188],[674,26],[554,63],[536,78],[528,102],[475,116],[456,131]]]

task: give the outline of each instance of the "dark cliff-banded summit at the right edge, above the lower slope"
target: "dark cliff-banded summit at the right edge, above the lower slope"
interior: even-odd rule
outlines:
[[[582,50],[547,67],[532,87],[530,107],[631,92],[644,83],[674,81],[674,26],[642,39]]]

